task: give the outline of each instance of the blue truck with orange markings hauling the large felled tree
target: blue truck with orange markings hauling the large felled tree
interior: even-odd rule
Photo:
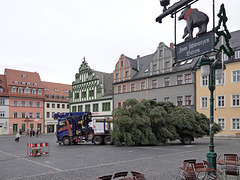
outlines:
[[[91,142],[96,145],[112,144],[111,134],[106,126],[112,120],[99,119],[97,122],[103,123],[103,132],[95,133],[93,127],[89,125],[92,122],[91,112],[72,112],[72,113],[57,113],[54,114],[54,119],[57,124],[57,143],[59,145],[71,145],[81,142]]]

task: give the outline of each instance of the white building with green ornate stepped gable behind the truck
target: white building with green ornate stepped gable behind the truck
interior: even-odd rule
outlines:
[[[85,58],[72,82],[69,94],[71,112],[92,112],[93,119],[112,118],[113,74],[91,69]]]

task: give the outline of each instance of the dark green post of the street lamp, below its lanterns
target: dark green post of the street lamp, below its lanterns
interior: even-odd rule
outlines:
[[[214,97],[213,93],[215,90],[215,68],[210,68],[209,75],[209,90],[210,90],[210,144],[209,152],[207,153],[207,161],[216,169],[216,159],[217,154],[214,152],[214,132],[213,132],[213,123],[214,123]]]

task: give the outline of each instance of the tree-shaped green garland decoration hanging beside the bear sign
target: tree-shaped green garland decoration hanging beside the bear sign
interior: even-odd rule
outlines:
[[[231,34],[229,33],[229,31],[227,29],[227,25],[226,25],[228,18],[226,16],[224,4],[221,5],[220,11],[217,16],[219,17],[219,22],[216,27],[217,37],[216,37],[216,41],[215,41],[215,46],[219,43],[220,37],[223,36],[228,50],[224,44],[222,44],[218,50],[219,50],[219,52],[221,52],[223,50],[224,53],[227,54],[228,57],[231,57],[234,55],[234,51],[232,50],[232,48],[229,45],[229,40],[231,39]],[[222,25],[224,27],[224,30],[221,31],[220,28]]]

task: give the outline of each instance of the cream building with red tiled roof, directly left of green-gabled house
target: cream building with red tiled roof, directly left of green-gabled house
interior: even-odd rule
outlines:
[[[44,87],[45,133],[55,133],[57,120],[55,113],[69,112],[69,92],[71,85],[42,81]]]

